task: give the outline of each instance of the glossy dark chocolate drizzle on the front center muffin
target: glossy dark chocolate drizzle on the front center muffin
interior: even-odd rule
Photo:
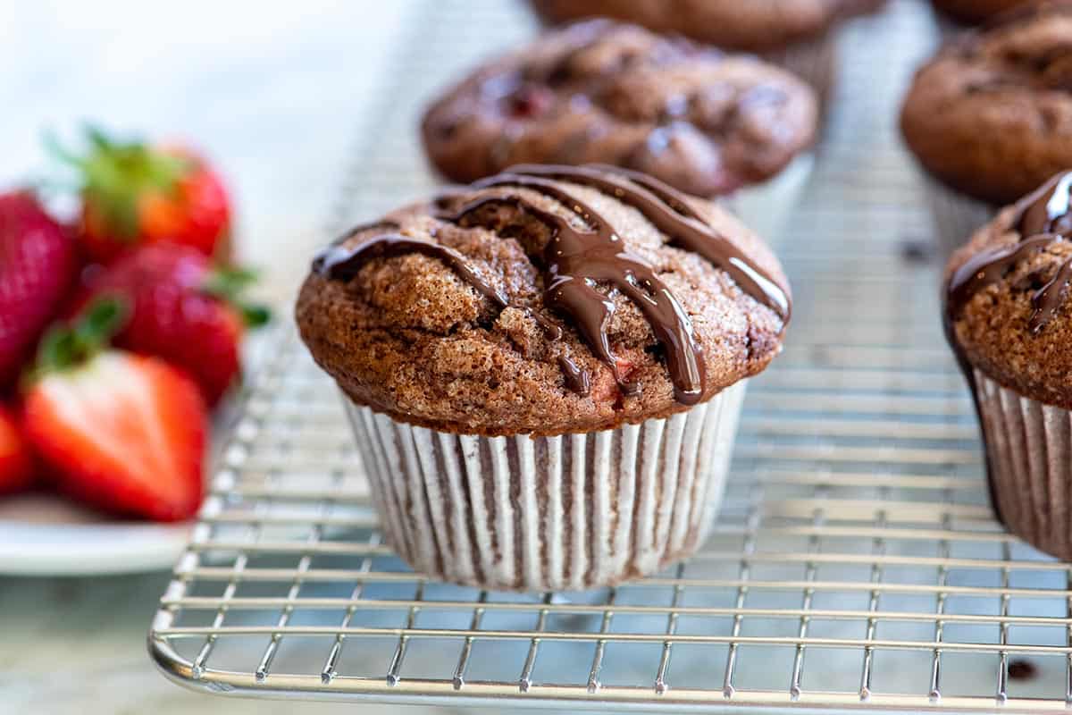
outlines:
[[[641,388],[621,374],[608,334],[615,302],[613,294],[600,292],[600,286],[613,288],[644,315],[662,346],[674,397],[681,404],[691,405],[703,398],[703,351],[685,309],[658,279],[653,267],[628,250],[606,219],[555,180],[592,187],[632,206],[666,234],[671,244],[695,252],[721,268],[742,291],[773,310],[783,324],[788,321],[791,307],[787,293],[709,226],[689,207],[684,195],[660,181],[615,167],[518,166],[473,184],[474,190],[504,191],[494,196],[481,196],[451,212],[442,212],[437,218],[462,226],[479,225],[481,211],[509,206],[547,227],[550,236],[542,254],[534,257],[534,263],[544,272],[544,303],[571,318],[592,353],[611,370],[624,394],[637,396]],[[553,198],[572,211],[585,227],[580,228],[562,215],[534,205],[511,189],[527,189]],[[443,208],[457,197],[457,193],[444,195],[436,203]],[[562,337],[562,328],[554,321],[526,306],[512,303],[487,283],[461,253],[433,241],[391,234],[373,237],[353,249],[337,244],[317,256],[313,269],[332,279],[349,280],[373,258],[407,253],[443,260],[498,309],[525,311],[552,340]],[[591,376],[565,351],[559,353],[557,361],[566,386],[579,394],[589,394]]]

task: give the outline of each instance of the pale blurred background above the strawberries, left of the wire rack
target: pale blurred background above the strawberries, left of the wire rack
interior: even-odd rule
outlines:
[[[407,0],[0,1],[0,185],[48,167],[80,122],[181,139],[234,195],[239,252],[285,286],[321,241],[355,119],[384,80]]]

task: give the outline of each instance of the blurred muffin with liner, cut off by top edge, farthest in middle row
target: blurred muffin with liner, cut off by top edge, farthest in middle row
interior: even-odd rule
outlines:
[[[823,98],[833,83],[830,30],[884,0],[532,0],[545,19],[612,17],[718,47],[764,55],[804,77]]]

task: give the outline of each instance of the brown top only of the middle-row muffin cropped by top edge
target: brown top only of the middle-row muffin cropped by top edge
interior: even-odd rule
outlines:
[[[808,40],[884,0],[532,0],[552,23],[613,17],[719,47],[763,51]]]

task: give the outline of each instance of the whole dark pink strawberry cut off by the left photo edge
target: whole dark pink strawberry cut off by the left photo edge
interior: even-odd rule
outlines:
[[[13,386],[66,297],[76,253],[32,194],[0,195],[0,390]]]

